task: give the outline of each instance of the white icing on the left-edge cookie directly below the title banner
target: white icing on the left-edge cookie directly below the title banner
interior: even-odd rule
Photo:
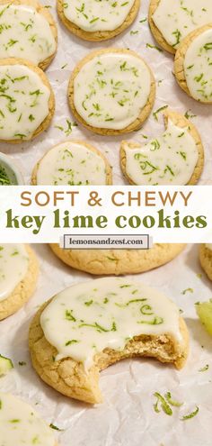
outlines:
[[[0,301],[3,301],[27,274],[29,255],[24,245],[0,245]]]

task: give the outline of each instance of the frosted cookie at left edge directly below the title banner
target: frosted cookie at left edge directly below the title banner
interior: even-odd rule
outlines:
[[[28,245],[0,245],[0,321],[30,299],[38,272],[38,260]]]

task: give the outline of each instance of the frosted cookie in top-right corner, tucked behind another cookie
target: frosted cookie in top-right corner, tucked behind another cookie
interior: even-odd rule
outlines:
[[[212,22],[210,0],[151,0],[149,24],[159,45],[172,54],[190,32]]]

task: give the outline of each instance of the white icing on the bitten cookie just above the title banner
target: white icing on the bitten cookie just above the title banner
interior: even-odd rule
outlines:
[[[177,127],[171,119],[162,136],[135,149],[125,141],[123,149],[126,173],[137,185],[186,185],[199,158],[188,129]]]

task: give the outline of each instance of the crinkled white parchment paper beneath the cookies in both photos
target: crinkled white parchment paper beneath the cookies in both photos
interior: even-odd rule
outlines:
[[[51,2],[42,2],[51,5]],[[26,182],[30,181],[31,169],[40,156],[52,145],[66,139],[66,134],[55,126],[66,128],[66,118],[74,121],[66,105],[66,86],[75,63],[89,50],[118,46],[137,50],[144,56],[155,71],[156,80],[163,80],[157,87],[157,100],[154,110],[169,104],[173,110],[184,114],[191,110],[197,117],[193,123],[199,128],[206,151],[206,165],[200,184],[209,184],[212,168],[210,148],[212,108],[199,105],[186,96],[172,77],[172,56],[146,48],[146,43],[154,44],[147,23],[139,23],[147,14],[147,4],[143,0],[137,22],[122,36],[105,43],[88,43],[76,39],[58,23],[57,57],[47,74],[54,88],[57,100],[56,115],[48,132],[32,143],[17,146],[0,144],[0,150],[11,154],[22,166]],[[55,14],[55,2],[50,11]],[[56,14],[55,14],[56,15]],[[61,68],[67,64],[66,68]],[[138,139],[144,133],[149,137],[163,130],[162,115],[156,123],[153,116],[143,129],[128,139]],[[102,150],[113,166],[114,184],[123,184],[119,170],[119,141],[121,137],[102,138],[75,127],[74,138],[84,138]],[[142,137],[141,137],[142,138]],[[145,140],[144,140],[145,141]],[[180,372],[161,365],[154,360],[123,361],[101,374],[101,387],[104,403],[90,407],[60,396],[56,391],[40,381],[31,368],[27,338],[31,317],[38,306],[64,287],[91,277],[68,269],[49,250],[48,246],[34,247],[40,258],[40,279],[37,292],[31,301],[12,317],[0,323],[0,353],[13,360],[14,370],[0,378],[0,389],[21,396],[47,420],[54,423],[62,432],[55,432],[59,446],[211,446],[212,444],[212,341],[199,323],[194,303],[211,298],[211,283],[202,273],[198,260],[198,246],[189,246],[184,253],[161,269],[138,276],[146,284],[158,287],[170,296],[183,310],[183,316],[190,330],[190,357]],[[193,293],[182,295],[186,288]],[[25,361],[25,366],[19,366]],[[208,371],[199,372],[206,364]],[[172,392],[172,396],[184,405],[173,408],[172,416],[155,414],[155,391]],[[181,416],[192,412],[196,405],[199,414],[182,422]],[[15,445],[14,445],[15,446]]]

